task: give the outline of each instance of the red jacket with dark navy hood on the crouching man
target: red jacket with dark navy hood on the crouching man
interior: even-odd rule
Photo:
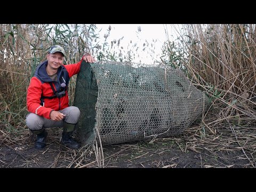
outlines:
[[[80,71],[81,63],[83,59],[78,63],[70,65],[62,65],[58,68],[57,81],[47,75],[46,66],[47,60],[40,63],[36,68],[34,77],[31,78],[27,91],[27,108],[30,113],[35,113],[39,116],[43,116],[50,119],[50,113],[53,110],[61,110],[68,107],[68,83],[71,76],[78,74]],[[54,92],[49,82],[52,82],[54,89],[59,92],[61,83],[66,84],[66,95],[61,98],[44,98],[54,97]]]

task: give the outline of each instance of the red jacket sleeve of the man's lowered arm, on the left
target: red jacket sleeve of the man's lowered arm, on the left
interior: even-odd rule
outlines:
[[[30,113],[50,119],[53,109],[40,105],[42,95],[42,83],[36,77],[32,77],[27,91],[27,108]]]

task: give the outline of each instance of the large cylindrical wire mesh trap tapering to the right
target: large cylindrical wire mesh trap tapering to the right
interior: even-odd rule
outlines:
[[[91,143],[97,129],[102,145],[180,134],[208,106],[209,99],[182,71],[134,66],[82,63],[74,99],[82,143]]]

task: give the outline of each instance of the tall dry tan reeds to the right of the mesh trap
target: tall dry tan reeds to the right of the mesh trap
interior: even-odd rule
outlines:
[[[207,150],[240,149],[255,166],[255,25],[185,25],[189,78],[212,99]],[[198,132],[195,133],[198,134]],[[225,136],[225,137],[224,137]],[[193,136],[194,137],[194,136]],[[198,142],[194,147],[198,146]]]

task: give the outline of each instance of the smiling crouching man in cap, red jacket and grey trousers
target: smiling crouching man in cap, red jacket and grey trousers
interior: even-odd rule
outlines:
[[[64,49],[59,45],[51,46],[47,60],[36,68],[27,91],[27,108],[30,114],[26,124],[36,134],[35,148],[46,146],[46,128],[63,127],[61,143],[70,149],[81,144],[71,138],[78,121],[80,110],[69,106],[68,83],[71,76],[78,74],[83,60],[94,62],[90,54],[85,54],[78,63],[63,65]]]

